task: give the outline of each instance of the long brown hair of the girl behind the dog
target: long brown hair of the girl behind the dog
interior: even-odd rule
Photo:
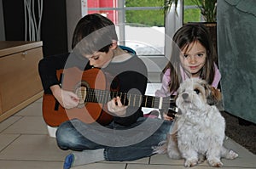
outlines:
[[[216,61],[216,51],[210,41],[207,28],[202,24],[187,24],[183,25],[176,31],[172,38],[172,55],[170,62],[166,65],[163,73],[167,69],[171,70],[169,83],[169,89],[171,93],[177,91],[179,84],[182,82],[182,76],[180,71],[180,51],[187,48],[192,42],[200,42],[201,45],[207,50],[206,64],[201,69],[200,78],[206,80],[209,84],[212,84],[214,79],[214,62]]]

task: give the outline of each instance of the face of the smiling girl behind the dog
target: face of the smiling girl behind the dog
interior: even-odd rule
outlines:
[[[198,77],[206,63],[207,50],[201,42],[195,41],[185,46],[179,57],[183,68],[193,77]]]

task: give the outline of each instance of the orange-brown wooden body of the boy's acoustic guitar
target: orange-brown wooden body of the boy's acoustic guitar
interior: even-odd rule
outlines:
[[[80,98],[79,106],[73,109],[65,109],[58,103],[52,94],[44,93],[43,116],[44,121],[51,127],[58,127],[62,122],[74,118],[85,123],[99,122],[107,125],[113,120],[113,116],[107,112],[107,105],[100,103],[84,103],[88,88],[105,90],[107,82],[104,73],[99,69],[79,70],[76,67],[65,70],[57,70],[61,88],[76,93]]]

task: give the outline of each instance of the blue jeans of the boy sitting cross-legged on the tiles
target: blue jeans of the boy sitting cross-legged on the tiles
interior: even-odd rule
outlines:
[[[107,127],[78,119],[66,121],[56,132],[61,149],[104,149],[106,161],[134,161],[153,155],[153,147],[166,140],[172,121],[140,117],[131,127],[114,122]]]

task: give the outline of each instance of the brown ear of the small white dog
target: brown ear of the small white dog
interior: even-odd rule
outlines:
[[[206,85],[207,104],[214,105],[221,101],[222,95],[218,88]]]

